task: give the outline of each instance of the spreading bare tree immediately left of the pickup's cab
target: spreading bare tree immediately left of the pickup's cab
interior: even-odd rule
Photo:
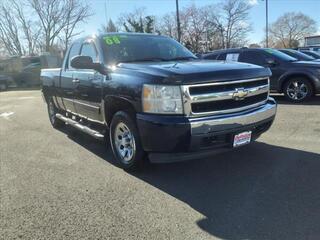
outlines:
[[[77,35],[75,27],[90,16],[89,6],[77,0],[29,0],[38,15],[44,34],[45,51],[50,52],[62,34],[66,48],[70,39]]]

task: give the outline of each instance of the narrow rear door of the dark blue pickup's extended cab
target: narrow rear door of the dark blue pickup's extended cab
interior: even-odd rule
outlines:
[[[68,56],[64,62],[63,69],[61,71],[61,83],[60,83],[60,94],[61,102],[65,110],[69,112],[75,112],[74,106],[74,94],[75,88],[77,87],[76,83],[73,80],[73,74],[75,69],[73,69],[70,65],[71,59],[74,56],[79,55],[81,44],[79,42],[75,42],[72,44]]]

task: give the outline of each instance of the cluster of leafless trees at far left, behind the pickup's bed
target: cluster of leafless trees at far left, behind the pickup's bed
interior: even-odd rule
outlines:
[[[80,34],[76,27],[91,15],[78,0],[3,0],[0,44],[13,56],[65,51]]]

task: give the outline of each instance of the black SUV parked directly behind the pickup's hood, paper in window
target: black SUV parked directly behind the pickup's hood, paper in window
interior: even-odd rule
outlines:
[[[203,59],[217,59],[257,64],[270,68],[270,88],[284,93],[292,102],[302,102],[320,92],[320,63],[299,61],[270,48],[239,48],[205,54]]]

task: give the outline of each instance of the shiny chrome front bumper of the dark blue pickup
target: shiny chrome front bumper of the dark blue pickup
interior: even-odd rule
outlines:
[[[274,118],[276,112],[277,104],[273,98],[269,98],[266,104],[244,112],[190,119],[191,135],[228,131],[254,125]]]

